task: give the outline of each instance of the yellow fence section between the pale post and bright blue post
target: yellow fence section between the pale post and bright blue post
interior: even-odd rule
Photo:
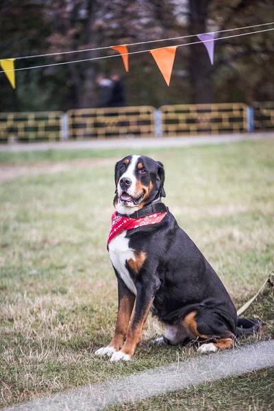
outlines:
[[[247,131],[247,105],[241,103],[162,105],[160,110],[163,136]]]

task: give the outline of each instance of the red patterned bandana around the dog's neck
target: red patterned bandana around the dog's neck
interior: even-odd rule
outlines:
[[[149,214],[145,217],[140,217],[140,219],[131,219],[130,217],[117,216],[117,212],[114,211],[112,214],[112,222],[110,225],[110,234],[108,234],[108,243],[123,229],[133,229],[142,227],[143,225],[160,223],[166,212],[155,212]],[[107,247],[108,248],[108,247]]]

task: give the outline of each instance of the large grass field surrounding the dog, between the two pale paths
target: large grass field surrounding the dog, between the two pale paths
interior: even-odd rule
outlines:
[[[114,332],[105,241],[114,164],[128,153],[0,153],[0,406],[197,355],[154,347],[152,317],[132,362],[94,355]],[[166,205],[240,306],[274,268],[273,141],[142,153],[164,163]],[[273,336],[271,299],[249,314],[266,325],[240,343]]]

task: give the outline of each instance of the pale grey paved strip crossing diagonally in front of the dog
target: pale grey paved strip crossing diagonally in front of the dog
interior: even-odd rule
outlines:
[[[106,361],[102,359],[102,361]],[[116,366],[114,364],[114,366]],[[93,411],[128,401],[138,401],[187,386],[212,382],[274,366],[274,340],[247,345],[178,364],[110,379],[69,393],[29,401],[3,411]]]

